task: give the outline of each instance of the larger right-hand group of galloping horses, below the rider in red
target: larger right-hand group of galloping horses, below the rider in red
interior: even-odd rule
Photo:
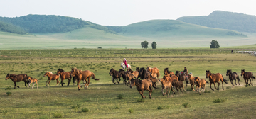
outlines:
[[[224,79],[223,75],[220,73],[213,74],[210,72],[210,70],[206,70],[206,78],[209,78],[209,82],[206,81],[205,79],[200,79],[199,77],[193,77],[193,74],[186,74],[186,72],[179,72],[176,71],[174,72],[169,71],[168,68],[164,69],[164,76],[163,78],[159,79],[160,73],[159,69],[154,67],[144,67],[140,68],[137,67],[135,71],[132,71],[132,69],[127,69],[127,71],[124,71],[124,69],[119,69],[119,71],[114,70],[113,68],[110,69],[109,72],[110,76],[112,76],[112,82],[114,84],[118,83],[121,81],[121,78],[124,81],[124,84],[130,85],[130,88],[133,86],[136,86],[137,90],[139,91],[139,94],[142,96],[144,99],[146,96],[143,95],[144,91],[149,91],[149,98],[151,98],[151,94],[154,89],[159,89],[156,87],[156,82],[160,81],[161,82],[161,88],[162,88],[162,94],[163,96],[167,94],[169,96],[170,91],[173,91],[173,94],[175,94],[175,91],[173,88],[176,88],[176,91],[178,92],[181,91],[186,91],[183,86],[183,81],[186,81],[186,86],[187,84],[191,84],[191,89],[193,91],[198,92],[199,94],[204,93],[206,89],[206,84],[210,83],[210,89],[214,91],[212,88],[212,84],[214,84],[214,88],[216,90],[219,90],[220,86],[220,81],[222,83],[222,89],[224,90],[223,83],[228,84],[228,80]],[[237,80],[238,80],[238,85],[240,85],[239,81],[239,75],[236,72],[232,72],[231,69],[228,69],[226,72],[226,76],[230,79],[230,83],[234,86],[234,81],[235,85],[237,85]],[[253,85],[252,81],[255,79],[253,76],[252,72],[245,72],[244,69],[241,70],[241,76],[245,79],[245,84],[246,85]],[[250,80],[250,84],[249,81]],[[216,87],[215,84],[218,84]],[[194,86],[196,85],[196,90],[194,89]],[[183,89],[183,91],[182,91]],[[200,91],[201,89],[201,91]],[[164,93],[164,90],[166,92]]]

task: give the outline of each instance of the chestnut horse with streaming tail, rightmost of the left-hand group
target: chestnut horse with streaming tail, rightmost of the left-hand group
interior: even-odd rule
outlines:
[[[90,72],[89,70],[82,71],[77,68],[71,69],[71,76],[75,77],[75,79],[78,80],[78,91],[80,90],[80,87],[82,87],[79,85],[81,80],[85,80],[85,89],[88,89],[88,86],[90,84],[90,77],[95,80],[100,80],[95,78],[95,74],[93,72]]]

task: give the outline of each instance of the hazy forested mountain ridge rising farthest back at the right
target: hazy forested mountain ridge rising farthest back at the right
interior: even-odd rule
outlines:
[[[177,19],[210,28],[222,28],[239,32],[256,33],[256,16],[228,11],[213,11],[208,16],[184,16]]]

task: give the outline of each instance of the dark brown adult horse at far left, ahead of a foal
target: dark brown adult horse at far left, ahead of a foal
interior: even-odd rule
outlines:
[[[28,75],[27,74],[7,74],[6,75],[6,80],[7,79],[11,79],[11,81],[14,82],[14,89],[16,89],[16,82],[19,82],[19,81],[24,81],[25,82],[25,86],[26,84],[28,84]],[[19,88],[19,86],[17,86]]]

